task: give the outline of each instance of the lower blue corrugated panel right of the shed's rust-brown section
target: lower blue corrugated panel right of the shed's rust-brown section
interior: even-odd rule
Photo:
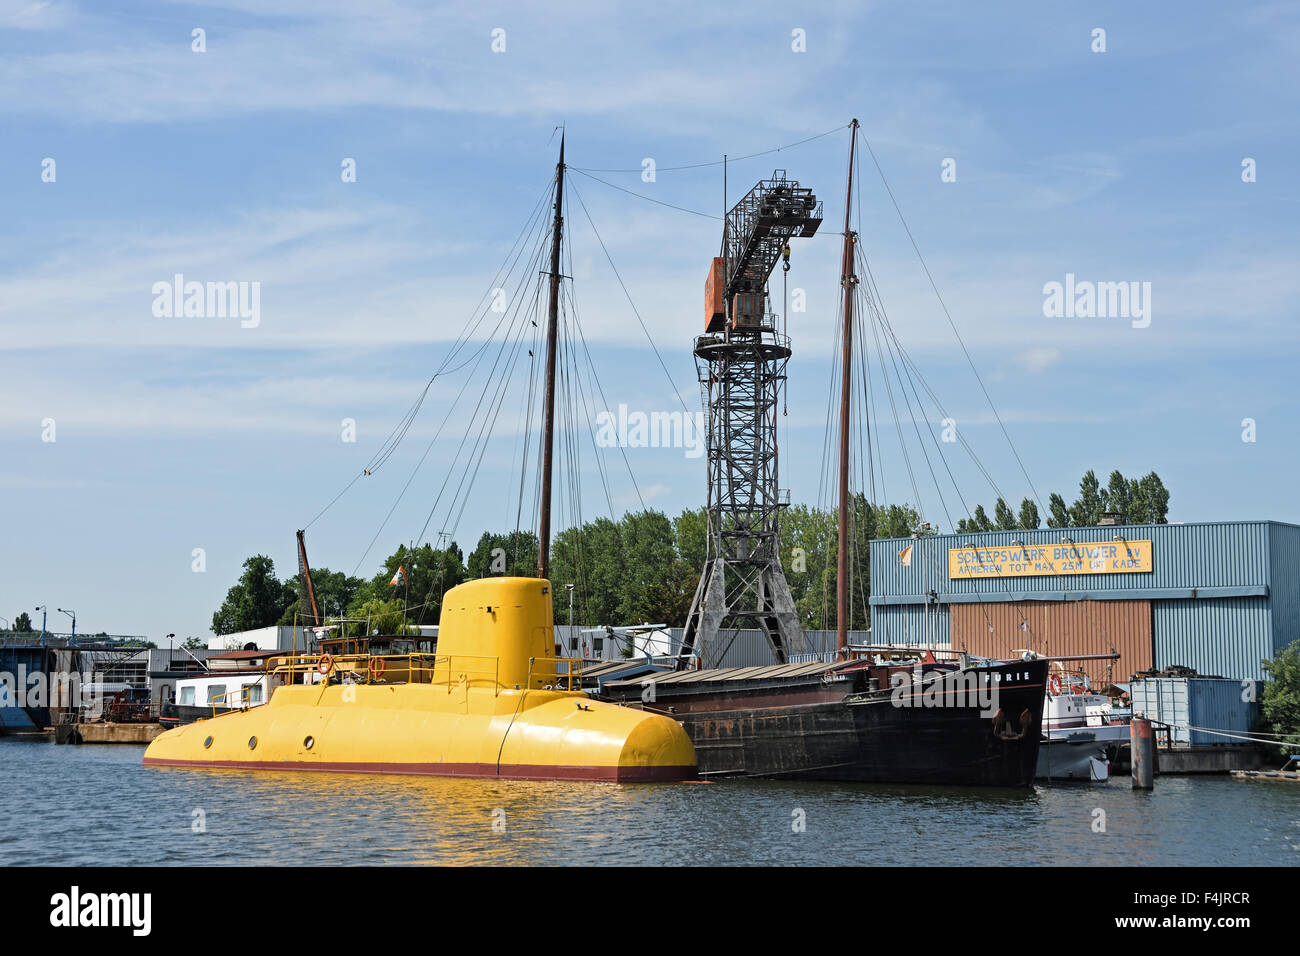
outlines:
[[[1152,601],[1156,667],[1195,667],[1199,674],[1264,679],[1260,662],[1273,650],[1269,598]]]

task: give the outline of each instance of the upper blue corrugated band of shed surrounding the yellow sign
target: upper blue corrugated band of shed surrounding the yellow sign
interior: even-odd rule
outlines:
[[[1212,524],[1121,524],[1095,528],[1040,528],[996,531],[979,535],[935,535],[922,538],[885,538],[871,542],[871,594],[874,601],[920,597],[927,588],[941,596],[997,594],[1002,600],[1035,600],[1067,589],[1071,597],[1106,597],[1114,592],[1192,588],[1252,588],[1261,593],[1269,584],[1269,532],[1291,529],[1274,522],[1222,522]],[[1109,575],[1040,575],[1032,578],[948,579],[948,550],[967,541],[982,548],[1014,548],[1061,544],[1110,542],[1114,537],[1150,538],[1149,572]],[[1277,537],[1277,536],[1275,536]],[[898,551],[913,545],[911,564],[898,561]],[[1296,544],[1300,551],[1300,544]],[[1297,555],[1296,561],[1300,561]],[[1292,575],[1297,574],[1292,566]],[[1297,585],[1300,587],[1300,585]],[[1118,594],[1115,594],[1118,596]],[[1130,597],[1144,597],[1130,593]],[[1173,594],[1170,594],[1173,597]],[[1300,613],[1300,611],[1297,611]]]

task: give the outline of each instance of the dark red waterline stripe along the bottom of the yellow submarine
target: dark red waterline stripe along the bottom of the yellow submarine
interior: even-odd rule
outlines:
[[[606,780],[660,783],[693,780],[693,766],[546,766],[543,763],[338,763],[328,761],[170,760],[146,757],[144,766],[216,770],[315,770],[334,774],[410,774],[416,777],[493,777],[516,780]]]

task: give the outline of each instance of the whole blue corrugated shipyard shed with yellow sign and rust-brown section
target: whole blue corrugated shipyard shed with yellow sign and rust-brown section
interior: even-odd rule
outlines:
[[[1264,679],[1300,640],[1300,525],[1100,524],[871,542],[871,633],[1006,657],[1109,654],[1093,679]]]

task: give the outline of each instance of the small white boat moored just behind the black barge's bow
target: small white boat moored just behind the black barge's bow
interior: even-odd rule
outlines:
[[[1088,678],[1053,663],[1043,706],[1043,743],[1036,778],[1102,783],[1110,761],[1128,741],[1128,722],[1110,698],[1093,693]]]

